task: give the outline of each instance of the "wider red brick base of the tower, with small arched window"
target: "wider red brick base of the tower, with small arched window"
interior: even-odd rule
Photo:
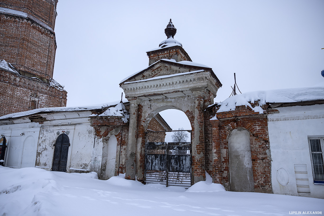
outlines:
[[[0,70],[0,116],[35,108],[65,107],[67,92],[24,76]]]

